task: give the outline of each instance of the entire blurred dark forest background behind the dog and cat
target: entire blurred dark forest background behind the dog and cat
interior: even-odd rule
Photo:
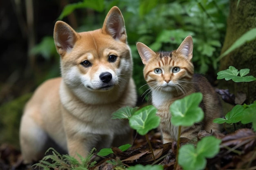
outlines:
[[[143,102],[148,87],[144,86],[143,64],[136,42],[143,42],[154,51],[172,51],[187,35],[192,35],[195,73],[206,75],[213,86],[218,85],[216,73],[220,69],[227,69],[231,64],[236,68],[241,64],[242,68],[251,67],[251,70],[255,66],[246,65],[255,63],[254,50],[248,50],[255,48],[255,41],[244,45],[246,51],[253,53],[244,57],[248,59],[245,62],[235,60],[234,54],[238,57],[245,54],[245,51],[239,53],[240,49],[231,58],[219,58],[237,38],[256,26],[254,1],[2,0],[0,144],[8,143],[19,148],[18,127],[25,102],[43,81],[60,76],[60,59],[53,40],[55,22],[63,20],[78,32],[99,29],[113,6],[118,6],[124,16],[139,103]],[[223,86],[232,88],[230,84]],[[256,91],[254,85],[250,89]],[[145,100],[147,98],[148,95]]]

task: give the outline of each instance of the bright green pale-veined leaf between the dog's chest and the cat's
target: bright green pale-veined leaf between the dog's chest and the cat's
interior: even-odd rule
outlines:
[[[140,135],[146,135],[149,130],[157,128],[160,118],[156,116],[157,109],[150,105],[137,110],[129,119],[130,126]]]

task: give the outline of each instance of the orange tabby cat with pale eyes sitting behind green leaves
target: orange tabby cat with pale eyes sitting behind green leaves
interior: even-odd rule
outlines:
[[[218,124],[213,123],[213,119],[220,117],[220,100],[207,79],[194,74],[192,37],[187,36],[178,49],[171,52],[155,53],[141,42],[136,45],[144,64],[144,78],[152,93],[152,103],[161,118],[159,129],[163,143],[177,141],[178,127],[171,124],[171,104],[195,92],[203,94],[200,107],[204,119],[193,126],[182,127],[180,137],[194,139],[200,130],[218,131]]]

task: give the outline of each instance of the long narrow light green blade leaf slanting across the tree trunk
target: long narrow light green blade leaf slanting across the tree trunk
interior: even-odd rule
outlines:
[[[256,38],[256,28],[253,28],[253,29],[247,31],[246,33],[244,33],[240,38],[238,38],[236,40],[236,42],[234,42],[234,44],[232,44],[229,47],[229,49],[227,49],[227,51],[225,51],[224,53],[222,53],[222,55],[220,55],[220,57],[218,57],[217,60],[220,60],[222,57],[224,57],[228,53],[234,51],[235,49],[242,46],[246,42],[254,40],[255,38]]]

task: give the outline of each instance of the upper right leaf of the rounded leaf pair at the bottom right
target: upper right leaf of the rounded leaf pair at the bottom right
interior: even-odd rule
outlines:
[[[220,143],[221,140],[216,137],[204,137],[196,146],[197,153],[206,158],[213,158],[220,151]]]

